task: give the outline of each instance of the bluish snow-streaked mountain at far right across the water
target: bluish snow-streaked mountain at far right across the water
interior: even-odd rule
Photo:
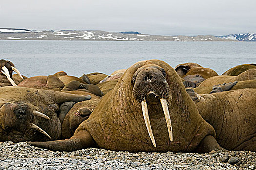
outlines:
[[[245,34],[230,34],[218,36],[223,39],[232,39],[238,41],[256,41],[256,33],[245,33]]]

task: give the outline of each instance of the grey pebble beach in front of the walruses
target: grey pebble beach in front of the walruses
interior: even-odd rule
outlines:
[[[98,148],[53,152],[26,142],[0,142],[0,170],[254,170],[256,152],[129,153]]]

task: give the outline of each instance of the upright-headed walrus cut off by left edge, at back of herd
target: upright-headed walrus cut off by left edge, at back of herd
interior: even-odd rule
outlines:
[[[13,80],[13,71],[16,72],[22,80],[24,79],[20,71],[14,67],[14,64],[11,61],[4,59],[0,60],[0,87],[17,86],[19,82]]]

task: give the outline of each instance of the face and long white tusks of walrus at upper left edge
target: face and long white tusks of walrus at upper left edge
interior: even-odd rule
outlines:
[[[20,71],[14,67],[12,62],[3,59],[0,60],[0,75],[2,74],[6,76],[13,86],[17,86],[12,79],[13,71],[16,72],[21,77],[21,79],[24,79],[20,74]]]

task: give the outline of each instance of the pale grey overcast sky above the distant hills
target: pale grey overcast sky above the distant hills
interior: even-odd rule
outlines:
[[[0,28],[249,33],[256,32],[256,0],[0,0]]]

